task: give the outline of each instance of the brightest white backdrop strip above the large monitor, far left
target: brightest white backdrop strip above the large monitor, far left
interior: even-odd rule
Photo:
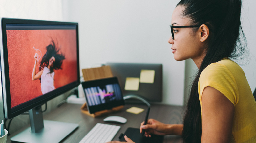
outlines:
[[[0,0],[0,17],[62,21],[62,1]]]

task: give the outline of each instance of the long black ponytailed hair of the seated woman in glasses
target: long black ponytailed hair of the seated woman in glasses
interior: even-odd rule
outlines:
[[[202,120],[198,94],[201,72],[211,63],[225,57],[237,59],[244,52],[246,39],[241,28],[241,5],[241,0],[181,0],[177,4],[184,7],[181,16],[189,18],[191,25],[205,24],[210,31],[205,57],[192,84],[184,116],[182,137],[185,143],[201,142]]]

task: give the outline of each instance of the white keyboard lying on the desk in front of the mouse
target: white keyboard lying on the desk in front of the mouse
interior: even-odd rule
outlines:
[[[111,141],[120,126],[97,123],[79,143],[105,143]]]

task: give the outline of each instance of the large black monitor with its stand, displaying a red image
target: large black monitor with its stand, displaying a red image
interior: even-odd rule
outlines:
[[[11,141],[61,141],[78,124],[43,120],[41,105],[80,84],[78,23],[1,18],[0,35],[4,118],[31,124]]]

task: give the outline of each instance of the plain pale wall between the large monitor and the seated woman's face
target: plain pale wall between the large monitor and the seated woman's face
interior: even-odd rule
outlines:
[[[179,0],[63,0],[63,20],[79,23],[80,66],[162,63],[163,102],[183,105],[185,62],[173,59],[169,25]]]

